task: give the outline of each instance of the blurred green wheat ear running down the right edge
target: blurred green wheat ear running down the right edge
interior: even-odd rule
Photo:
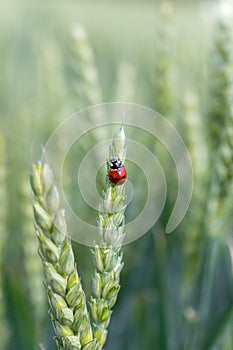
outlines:
[[[206,216],[210,235],[223,235],[233,191],[233,26],[221,17],[216,25],[209,111],[211,183]]]

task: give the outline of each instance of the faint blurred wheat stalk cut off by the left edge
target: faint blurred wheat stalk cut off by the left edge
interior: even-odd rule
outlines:
[[[5,242],[6,242],[6,183],[5,183],[5,147],[4,139],[0,134],[0,344],[2,349],[6,349],[8,338],[9,338],[9,328],[6,321],[6,309],[5,300],[3,292],[3,263],[5,257]]]

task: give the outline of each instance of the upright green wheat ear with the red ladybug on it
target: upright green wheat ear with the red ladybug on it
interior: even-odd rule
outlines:
[[[109,161],[119,158],[124,162],[125,150],[125,134],[121,127],[110,145]],[[111,309],[116,303],[120,289],[125,201],[125,185],[117,186],[108,181],[98,217],[100,244],[96,244],[93,249],[95,273],[90,306],[98,349],[102,349],[106,342]]]

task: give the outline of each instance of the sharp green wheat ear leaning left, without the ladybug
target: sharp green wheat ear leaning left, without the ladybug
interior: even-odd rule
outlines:
[[[31,174],[35,228],[45,272],[45,287],[58,349],[96,349],[86,298],[78,276],[64,211],[47,164]]]

